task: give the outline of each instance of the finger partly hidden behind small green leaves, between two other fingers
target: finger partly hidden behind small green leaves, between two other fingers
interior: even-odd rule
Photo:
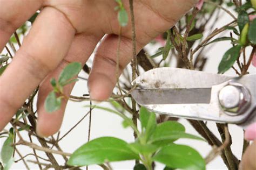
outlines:
[[[48,137],[56,133],[62,124],[64,111],[67,100],[62,100],[62,107],[52,113],[48,113],[44,109],[44,101],[47,95],[52,91],[50,80],[55,77],[58,80],[58,76],[62,69],[70,62],[80,62],[82,65],[85,64],[93,49],[97,45],[97,42],[101,37],[85,36],[84,34],[78,34],[72,42],[70,51],[65,59],[60,63],[57,69],[53,70],[45,80],[40,84],[37,111],[38,111],[38,122],[37,122],[37,134],[42,137]],[[70,96],[75,83],[68,84],[64,87],[64,94]]]

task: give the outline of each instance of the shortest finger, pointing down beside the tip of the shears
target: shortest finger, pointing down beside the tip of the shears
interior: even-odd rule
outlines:
[[[110,97],[117,82],[117,47],[118,36],[110,34],[106,36],[96,52],[91,74],[88,80],[90,96],[93,100],[106,100]],[[141,46],[137,44],[137,50]],[[122,73],[125,66],[132,59],[132,40],[122,37],[120,42],[119,71]]]

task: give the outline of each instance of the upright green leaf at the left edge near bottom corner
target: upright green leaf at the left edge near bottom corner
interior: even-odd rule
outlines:
[[[12,155],[14,154],[14,146],[11,146],[14,142],[14,136],[9,134],[9,137],[4,141],[2,151],[1,151],[1,159],[4,167],[11,160]]]

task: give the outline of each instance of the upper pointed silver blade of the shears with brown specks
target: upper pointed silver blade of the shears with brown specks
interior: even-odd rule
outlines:
[[[180,68],[156,68],[137,77],[133,84],[143,89],[211,88],[232,79],[232,76]]]

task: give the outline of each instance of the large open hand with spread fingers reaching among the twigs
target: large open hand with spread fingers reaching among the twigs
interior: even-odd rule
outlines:
[[[129,12],[129,2],[123,1]],[[158,34],[170,29],[198,0],[135,0],[137,52]],[[0,0],[0,51],[11,34],[33,13],[41,13],[33,23],[22,47],[0,77],[0,131],[25,99],[40,85],[37,133],[50,136],[62,124],[67,101],[60,110],[48,114],[46,96],[52,90],[50,79],[58,77],[70,62],[85,64],[98,41],[88,87],[92,100],[106,100],[116,84],[116,51],[119,33],[114,0]],[[15,9],[15,10],[14,10]],[[123,28],[119,74],[132,60],[131,22]],[[64,88],[69,96],[74,84]]]

